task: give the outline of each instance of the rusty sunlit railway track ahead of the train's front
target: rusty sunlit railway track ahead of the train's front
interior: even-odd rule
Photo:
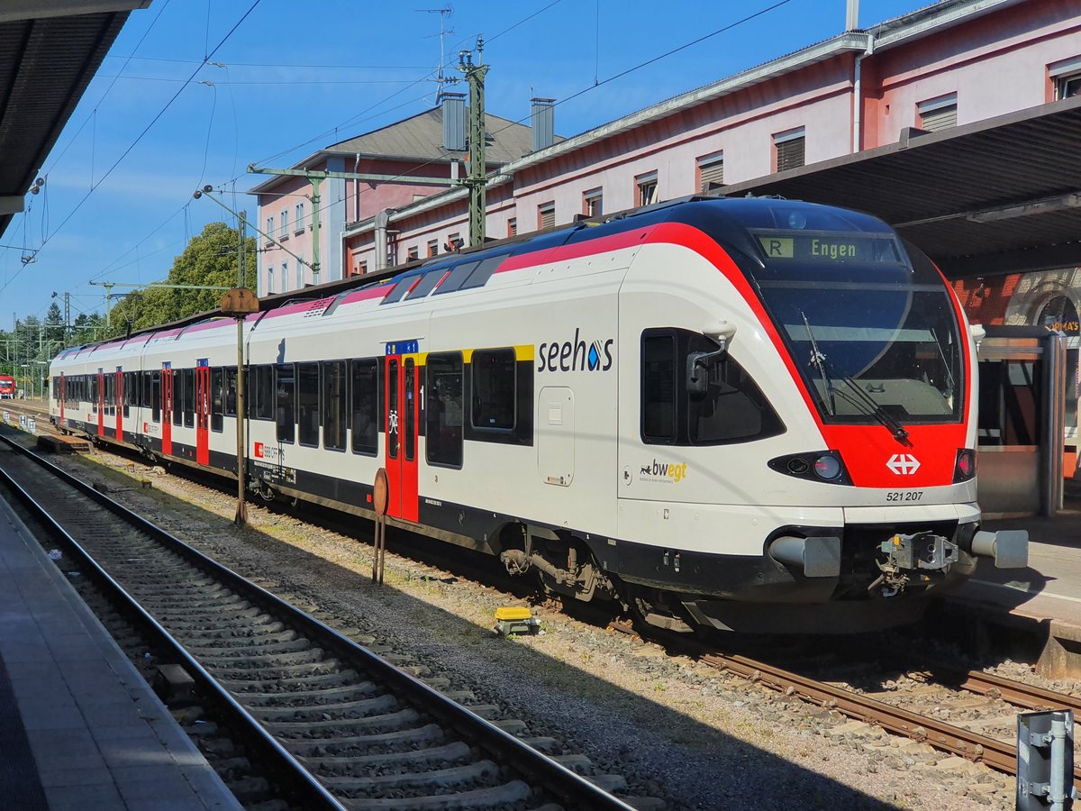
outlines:
[[[626,622],[613,623],[611,627],[623,633],[637,633]],[[657,638],[659,635],[653,636]],[[735,674],[763,688],[835,709],[849,718],[1012,775],[1017,773],[1017,712],[1072,709],[1081,717],[1081,699],[1077,696],[982,670],[962,673],[948,666],[932,666],[909,672],[912,677],[910,680],[926,687],[926,691],[921,691],[913,701],[912,694],[906,691],[880,690],[868,693],[843,682],[804,675],[758,659],[721,653],[697,640],[666,636],[665,641],[680,653],[693,655],[704,664]],[[858,662],[848,663],[849,670],[866,667]],[[965,695],[982,696],[985,703],[977,707],[975,703],[966,701]],[[903,706],[904,702],[922,706],[925,712]],[[938,710],[940,714],[945,708],[948,713],[951,704],[963,706],[973,718],[955,723],[932,712]],[[1004,734],[984,734],[980,729],[998,729]],[[1081,789],[1081,763],[1075,766],[1073,783]]]

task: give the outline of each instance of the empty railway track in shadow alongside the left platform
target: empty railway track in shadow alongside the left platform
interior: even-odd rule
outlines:
[[[443,694],[5,437],[0,482],[126,603],[303,808],[631,809],[619,775]],[[46,506],[48,505],[48,506]]]

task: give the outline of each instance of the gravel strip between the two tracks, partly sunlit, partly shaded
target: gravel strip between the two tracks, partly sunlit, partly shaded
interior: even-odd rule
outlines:
[[[493,633],[495,609],[525,604],[387,553],[371,584],[371,524],[352,537],[249,507],[161,468],[111,454],[57,458],[108,494],[285,599],[409,654],[557,739],[630,794],[673,810],[1012,809],[1014,781],[836,712],[787,699],[635,637],[537,610],[543,633]],[[142,487],[149,479],[152,487]]]

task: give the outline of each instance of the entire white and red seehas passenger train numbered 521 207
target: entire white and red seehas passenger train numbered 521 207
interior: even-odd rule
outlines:
[[[246,469],[611,597],[753,631],[903,622],[977,556],[973,340],[865,214],[691,198],[248,317]],[[66,430],[236,475],[227,318],[68,349]]]

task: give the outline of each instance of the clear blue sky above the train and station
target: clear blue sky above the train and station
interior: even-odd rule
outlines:
[[[926,4],[864,0],[859,22]],[[264,176],[249,163],[288,167],[432,106],[441,18],[445,76],[484,36],[492,114],[524,119],[531,95],[590,89],[556,108],[556,131],[574,135],[832,37],[844,15],[844,0],[154,0],[129,17],[41,168],[41,194],[0,237],[0,328],[43,316],[54,291],[71,294],[75,318],[104,313],[91,280],[163,278],[205,223],[231,220],[196,188],[223,188],[253,217],[244,192]]]

